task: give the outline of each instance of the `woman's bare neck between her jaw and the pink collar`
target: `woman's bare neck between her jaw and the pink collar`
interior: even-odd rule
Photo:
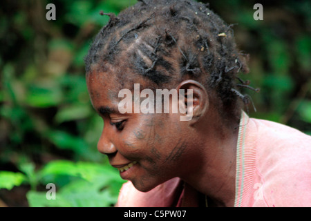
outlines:
[[[238,128],[227,128],[217,120],[203,124],[205,130],[198,136],[201,148],[196,146],[200,148],[198,159],[201,160],[181,178],[206,195],[209,206],[234,206]],[[209,125],[208,128],[206,125]]]

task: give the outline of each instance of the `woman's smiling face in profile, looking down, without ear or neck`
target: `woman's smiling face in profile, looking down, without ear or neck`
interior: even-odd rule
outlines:
[[[180,122],[180,114],[120,114],[117,107],[123,98],[115,91],[120,83],[111,76],[103,81],[100,75],[89,74],[86,79],[93,107],[104,119],[97,149],[108,155],[122,179],[131,180],[140,191],[149,191],[189,173],[191,133],[187,122]]]

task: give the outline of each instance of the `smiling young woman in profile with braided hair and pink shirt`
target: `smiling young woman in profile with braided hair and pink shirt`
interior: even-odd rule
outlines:
[[[248,70],[231,26],[184,0],[106,15],[86,81],[104,119],[97,148],[129,180],[117,206],[311,206],[311,137],[242,111],[250,99],[238,88],[251,87],[238,77]],[[135,84],[184,90],[187,112],[120,113],[120,90]]]

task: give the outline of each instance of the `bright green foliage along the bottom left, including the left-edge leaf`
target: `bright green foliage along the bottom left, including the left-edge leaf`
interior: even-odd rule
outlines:
[[[93,162],[51,161],[35,171],[32,163],[21,164],[24,173],[0,171],[0,189],[30,184],[27,193],[30,206],[113,206],[124,183],[109,164]],[[46,197],[47,191],[37,191],[38,186],[53,183],[57,186],[55,200]]]

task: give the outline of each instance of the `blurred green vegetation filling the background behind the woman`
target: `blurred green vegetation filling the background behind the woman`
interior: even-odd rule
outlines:
[[[113,206],[120,179],[96,144],[103,122],[91,107],[83,58],[108,21],[135,0],[0,3],[0,206]],[[207,1],[204,1],[207,2]],[[311,2],[208,1],[234,23],[249,54],[243,76],[261,88],[257,111],[311,135]],[[46,5],[56,21],[46,20]],[[255,3],[263,21],[255,21]],[[135,18],[133,18],[135,19]],[[46,199],[56,184],[57,200]]]

